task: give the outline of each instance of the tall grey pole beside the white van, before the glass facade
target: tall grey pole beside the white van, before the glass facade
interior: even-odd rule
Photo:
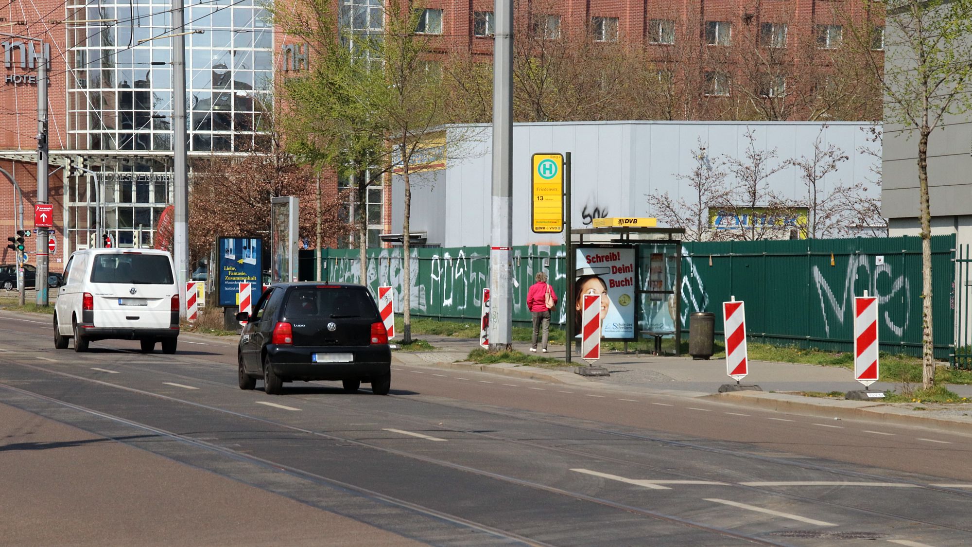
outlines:
[[[172,229],[172,261],[180,287],[189,280],[189,166],[186,160],[186,35],[183,0],[172,0],[172,151],[175,223]],[[186,307],[179,307],[186,316]]]

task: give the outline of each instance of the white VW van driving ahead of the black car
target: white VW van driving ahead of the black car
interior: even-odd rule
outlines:
[[[95,340],[138,340],[142,351],[162,343],[175,353],[179,289],[172,257],[155,249],[87,249],[64,267],[54,306],[54,347],[87,350]]]

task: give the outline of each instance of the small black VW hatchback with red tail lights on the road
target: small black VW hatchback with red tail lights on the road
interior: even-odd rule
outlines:
[[[240,336],[240,389],[277,395],[283,383],[340,380],[344,390],[371,383],[376,395],[392,384],[392,350],[378,307],[362,285],[280,283],[253,307]]]

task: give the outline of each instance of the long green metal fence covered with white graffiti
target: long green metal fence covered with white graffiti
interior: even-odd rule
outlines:
[[[853,297],[867,290],[881,307],[879,340],[890,353],[920,355],[921,242],[919,237],[805,239],[787,241],[686,242],[682,247],[681,316],[683,331],[693,311],[715,313],[721,334],[720,304],[731,296],[746,301],[749,337],[777,345],[851,351]],[[958,321],[953,287],[956,270],[968,279],[969,250],[955,260],[955,236],[932,237],[932,309],[935,355],[954,356],[956,337],[961,362],[972,367],[972,324]],[[513,320],[527,322],[527,289],[534,274],[547,272],[563,302],[567,275],[564,247],[519,246],[513,250]],[[356,249],[326,249],[322,278],[360,282]],[[953,261],[957,263],[957,268]],[[482,289],[489,283],[489,247],[416,248],[410,259],[410,308],[413,314],[476,319]],[[401,249],[368,249],[366,284],[392,285],[401,310]],[[961,306],[972,293],[961,281]],[[558,306],[551,322],[566,322]],[[963,311],[966,315],[970,312]],[[959,333],[959,330],[961,331]],[[955,358],[954,358],[955,361]]]

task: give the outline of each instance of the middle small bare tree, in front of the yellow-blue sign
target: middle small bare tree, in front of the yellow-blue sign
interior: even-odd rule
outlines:
[[[724,234],[749,241],[779,238],[784,231],[796,228],[796,211],[770,189],[769,179],[786,168],[789,161],[778,159],[776,147],[757,147],[752,129],[747,129],[744,136],[747,143],[743,158],[723,155],[727,170],[736,178],[729,200],[721,207],[735,221],[735,228]]]

